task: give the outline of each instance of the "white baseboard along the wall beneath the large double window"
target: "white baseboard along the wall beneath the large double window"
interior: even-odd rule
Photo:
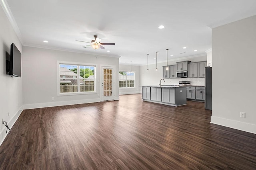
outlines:
[[[118,100],[119,100],[119,98],[118,98]],[[101,100],[100,99],[85,99],[85,100],[72,100],[72,101],[62,101],[62,102],[25,104],[25,105],[23,105],[23,109],[36,109],[36,108],[42,108],[42,107],[66,106],[66,105],[96,103],[96,102],[101,102]]]

